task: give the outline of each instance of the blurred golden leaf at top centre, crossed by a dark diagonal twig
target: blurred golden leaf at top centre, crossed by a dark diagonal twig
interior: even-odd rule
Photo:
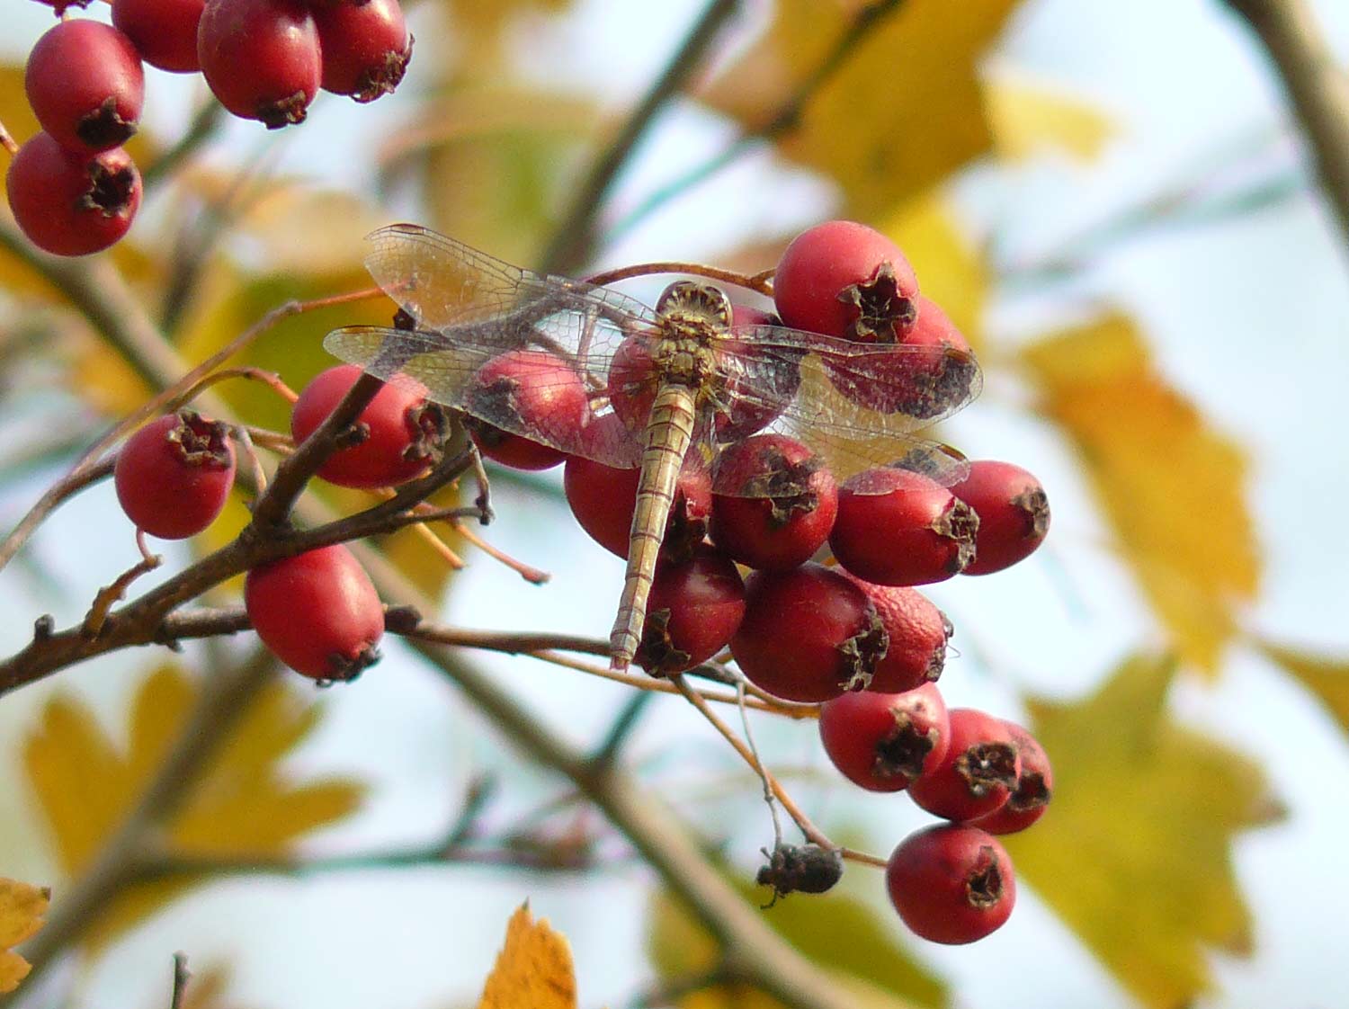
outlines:
[[[816,70],[859,0],[781,0],[764,38],[704,96],[762,128]],[[986,152],[978,65],[1016,0],[907,0],[874,24],[780,140],[782,154],[843,189],[870,220]]]

